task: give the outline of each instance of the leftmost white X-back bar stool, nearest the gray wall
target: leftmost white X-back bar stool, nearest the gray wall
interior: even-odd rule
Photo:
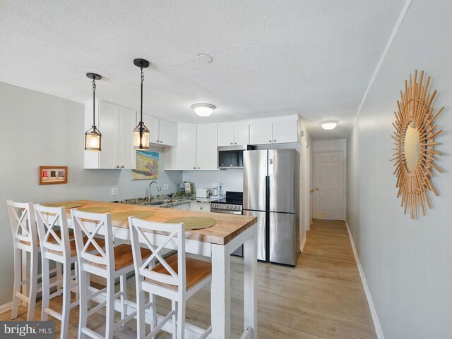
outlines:
[[[28,304],[27,320],[32,321],[33,314],[35,314],[36,294],[38,292],[37,257],[40,252],[40,245],[37,241],[35,211],[31,202],[23,203],[8,200],[6,204],[8,204],[8,214],[13,230],[14,247],[14,288],[11,319],[17,318],[18,302],[22,300]],[[28,253],[30,254],[29,262],[27,258]],[[30,270],[22,270],[22,262],[25,261],[30,266]],[[21,287],[22,292],[20,292]]]

